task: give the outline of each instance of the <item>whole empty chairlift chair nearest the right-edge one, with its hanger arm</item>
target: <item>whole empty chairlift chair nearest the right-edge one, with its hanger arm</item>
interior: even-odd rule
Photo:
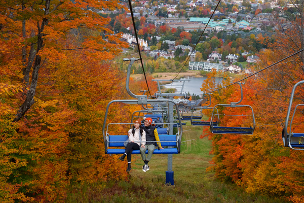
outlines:
[[[232,134],[253,134],[254,128],[255,128],[255,119],[254,119],[254,114],[253,114],[253,109],[251,106],[249,105],[238,105],[241,103],[241,101],[243,100],[243,89],[242,89],[242,84],[244,83],[238,83],[240,85],[241,88],[241,99],[240,101],[238,101],[237,103],[231,103],[230,105],[228,104],[219,104],[219,105],[215,105],[213,107],[213,111],[212,111],[212,116],[211,116],[211,121],[210,123],[212,123],[214,121],[214,118],[219,116],[220,117],[220,122],[218,123],[218,125],[210,125],[210,130],[212,133],[218,133],[218,134],[223,134],[223,133],[232,133]],[[219,115],[218,113],[215,113],[216,107],[226,107],[226,108],[238,108],[241,109],[243,108],[243,114],[241,115],[236,115],[236,114],[232,114],[232,115],[228,115],[228,114],[221,114]],[[249,108],[249,115],[246,115],[246,108],[248,111]],[[245,109],[245,111],[244,111]],[[233,117],[234,119],[244,119],[244,118],[251,118],[251,121],[249,122],[249,124],[247,124],[246,127],[240,127],[240,126],[227,126],[227,124],[221,123],[222,120],[224,120],[224,117]],[[247,119],[246,121],[248,121],[249,119]],[[242,123],[245,124],[245,123]]]

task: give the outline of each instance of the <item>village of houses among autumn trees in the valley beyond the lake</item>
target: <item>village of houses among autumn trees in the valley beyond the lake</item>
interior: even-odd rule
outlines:
[[[128,2],[121,3],[128,7]],[[217,4],[209,0],[133,1],[141,51],[151,60],[163,57],[180,64],[190,57],[188,70],[246,72],[246,65],[255,63],[259,51],[268,48],[275,30],[288,27],[288,17],[296,15],[292,5],[283,11],[275,1]],[[109,28],[122,33],[122,40],[130,45],[125,53],[138,51],[130,11],[97,12],[111,17]]]

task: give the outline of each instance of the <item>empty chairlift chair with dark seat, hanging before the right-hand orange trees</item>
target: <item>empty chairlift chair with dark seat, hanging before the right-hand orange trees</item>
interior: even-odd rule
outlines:
[[[218,104],[218,105],[215,105],[213,107],[213,110],[212,110],[212,117],[211,117],[211,120],[210,120],[210,130],[212,133],[215,133],[215,134],[225,134],[225,133],[230,133],[230,134],[253,134],[253,131],[255,129],[255,119],[254,119],[254,113],[253,113],[253,109],[251,106],[249,105],[239,105],[241,103],[241,101],[243,100],[243,88],[242,88],[242,84],[245,84],[245,83],[237,83],[240,85],[240,88],[241,88],[241,99],[238,101],[238,102],[232,102],[230,105],[228,104]],[[240,107],[249,107],[251,109],[251,112],[252,112],[252,122],[253,122],[253,127],[224,127],[224,126],[213,126],[211,125],[211,123],[213,122],[213,118],[214,118],[214,110],[216,109],[217,106],[222,106],[222,107],[231,107],[231,108],[240,108]],[[217,114],[218,115],[218,114]],[[241,116],[241,115],[218,115],[218,116]],[[242,115],[243,116],[243,115]],[[223,129],[223,131],[214,131],[214,128],[216,129]],[[227,130],[227,131],[224,131]],[[241,131],[229,131],[229,129],[238,129],[238,130],[241,130]]]

